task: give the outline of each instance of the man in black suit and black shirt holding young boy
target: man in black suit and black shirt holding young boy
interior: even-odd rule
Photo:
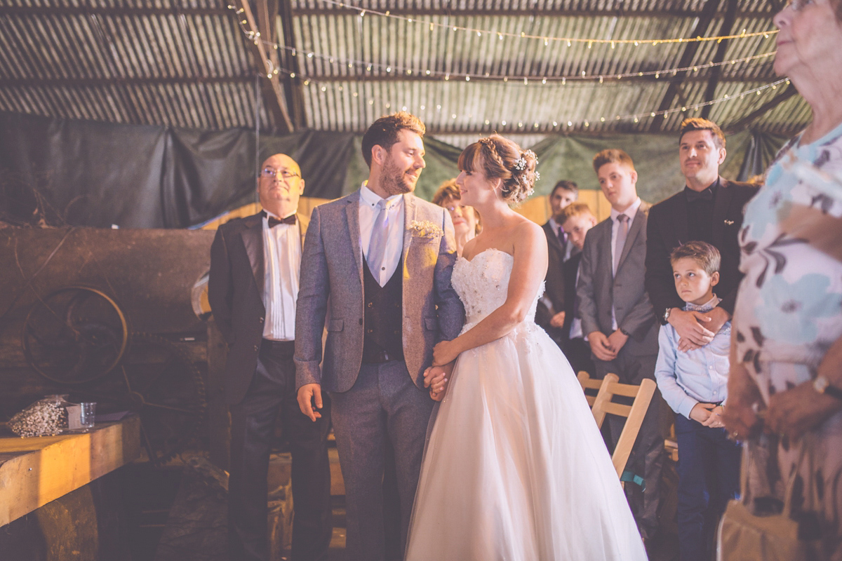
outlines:
[[[719,176],[725,154],[725,135],[716,123],[685,119],[679,131],[685,188],[649,211],[646,290],[661,323],[669,322],[678,332],[683,351],[703,347],[731,319],[743,278],[738,269],[737,235],[743,225],[743,207],[757,187]],[[722,302],[709,312],[684,311],[684,302],[675,292],[669,254],[688,241],[706,241],[722,255],[717,286]]]

